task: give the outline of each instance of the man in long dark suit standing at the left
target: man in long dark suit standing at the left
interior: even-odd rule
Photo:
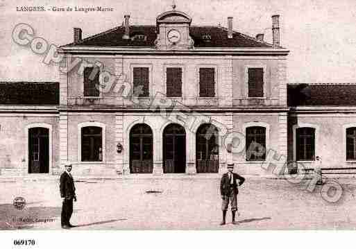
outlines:
[[[76,187],[71,176],[71,164],[65,164],[65,171],[60,175],[60,197],[62,198],[61,225],[64,229],[74,227],[69,223],[71,214],[73,214],[73,200],[76,201]]]

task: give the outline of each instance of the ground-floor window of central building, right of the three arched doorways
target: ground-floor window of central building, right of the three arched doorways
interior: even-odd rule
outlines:
[[[266,160],[266,128],[250,126],[246,128],[246,160]]]

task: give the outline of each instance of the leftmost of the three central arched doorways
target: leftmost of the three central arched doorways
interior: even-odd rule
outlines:
[[[153,172],[153,132],[146,123],[130,130],[130,173]]]

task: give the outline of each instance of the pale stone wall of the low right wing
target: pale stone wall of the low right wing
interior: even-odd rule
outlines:
[[[346,160],[346,129],[356,127],[355,108],[300,107],[288,117],[288,160],[296,160],[296,128],[315,128],[315,155],[325,167],[353,167],[355,160]],[[305,167],[313,161],[300,162]],[[347,172],[347,171],[344,171]]]

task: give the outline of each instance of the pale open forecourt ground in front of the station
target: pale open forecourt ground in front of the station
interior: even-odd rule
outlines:
[[[239,225],[230,223],[228,212],[228,225],[220,226],[217,178],[83,180],[76,182],[71,222],[78,225],[74,230],[355,229],[356,180],[339,182],[344,197],[328,203],[319,186],[310,193],[305,183],[247,179],[238,196]],[[13,207],[16,196],[26,198],[24,210]],[[60,212],[57,180],[1,182],[1,229],[60,229]]]

